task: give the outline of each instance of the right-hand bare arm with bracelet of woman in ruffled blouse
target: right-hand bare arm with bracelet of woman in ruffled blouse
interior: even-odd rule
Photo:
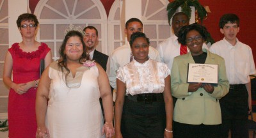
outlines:
[[[173,101],[171,94],[171,82],[170,75],[164,79],[164,104],[165,104],[165,112],[166,112],[166,130],[172,130],[172,119],[173,119]],[[173,134],[171,132],[164,131],[164,137],[172,137]]]

